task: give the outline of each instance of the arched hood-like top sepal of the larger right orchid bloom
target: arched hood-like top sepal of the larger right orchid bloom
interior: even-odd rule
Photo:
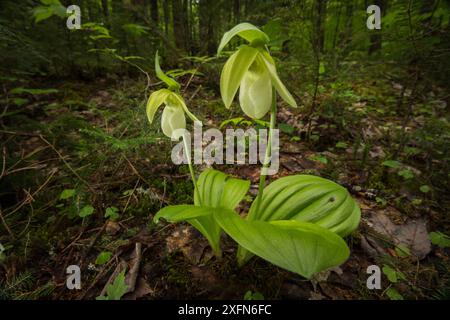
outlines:
[[[270,41],[267,34],[262,32],[260,29],[248,22],[243,22],[224,33],[217,50],[217,55],[222,52],[223,48],[225,48],[225,46],[235,36],[239,36],[247,40],[250,44],[252,44],[252,46],[254,46],[255,44],[265,46]]]

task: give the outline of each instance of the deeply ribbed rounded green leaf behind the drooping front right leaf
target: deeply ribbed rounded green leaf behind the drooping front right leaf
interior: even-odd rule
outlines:
[[[344,237],[358,227],[360,217],[357,202],[342,186],[316,176],[294,175],[269,184],[260,211],[253,202],[247,220],[311,222]],[[237,256],[243,264],[252,254],[240,247]]]

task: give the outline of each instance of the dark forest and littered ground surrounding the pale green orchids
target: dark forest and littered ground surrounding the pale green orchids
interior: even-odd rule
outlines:
[[[79,30],[66,27],[72,4]],[[366,26],[371,4],[380,30]],[[239,269],[230,241],[219,261],[192,228],[151,222],[193,194],[160,112],[153,124],[145,114],[164,87],[156,51],[206,127],[267,126],[220,98],[241,42],[217,47],[240,22],[269,35],[299,105],[279,103],[278,176],[331,179],[362,209],[350,259],[316,282],[262,259]],[[124,263],[140,265],[128,298],[449,299],[449,23],[449,0],[0,1],[0,299],[94,299]],[[220,169],[255,190],[257,166]],[[65,287],[70,264],[80,291]],[[372,264],[386,290],[367,289]]]

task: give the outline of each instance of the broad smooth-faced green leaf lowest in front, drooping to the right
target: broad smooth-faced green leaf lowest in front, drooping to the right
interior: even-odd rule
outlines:
[[[341,237],[312,223],[249,221],[224,208],[214,217],[242,247],[306,278],[343,263],[350,253]]]

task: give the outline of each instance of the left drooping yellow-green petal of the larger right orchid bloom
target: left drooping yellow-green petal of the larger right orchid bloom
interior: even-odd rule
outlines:
[[[226,108],[233,102],[245,73],[258,55],[258,50],[243,46],[225,63],[220,75],[220,93]]]

